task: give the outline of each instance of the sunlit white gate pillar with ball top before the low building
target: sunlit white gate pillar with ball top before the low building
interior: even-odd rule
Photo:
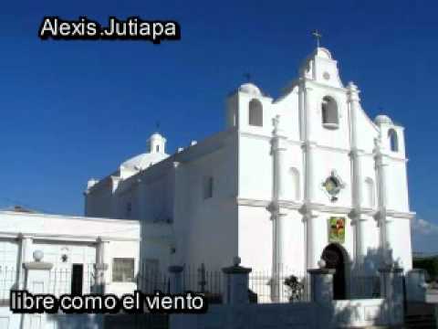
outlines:
[[[34,251],[33,256],[33,261],[23,264],[26,271],[25,290],[32,294],[49,293],[50,270],[53,264],[42,261],[44,253],[41,250]],[[46,319],[46,313],[24,314],[23,328],[45,328]]]

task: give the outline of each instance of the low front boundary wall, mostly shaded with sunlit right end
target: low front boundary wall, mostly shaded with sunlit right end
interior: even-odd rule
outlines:
[[[205,314],[174,314],[170,329],[328,329],[387,324],[384,299],[246,305],[211,305]]]

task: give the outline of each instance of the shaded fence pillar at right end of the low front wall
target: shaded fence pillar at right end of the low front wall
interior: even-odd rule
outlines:
[[[381,273],[381,295],[387,302],[390,324],[403,323],[403,269],[388,266]]]

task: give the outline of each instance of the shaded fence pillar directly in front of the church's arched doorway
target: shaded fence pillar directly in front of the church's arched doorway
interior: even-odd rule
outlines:
[[[333,275],[335,270],[308,270],[310,274],[310,298],[318,304],[329,304],[333,301]]]

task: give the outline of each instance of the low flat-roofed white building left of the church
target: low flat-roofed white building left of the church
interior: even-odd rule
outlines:
[[[137,220],[0,211],[0,300],[11,288],[23,289],[23,264],[36,250],[53,264],[47,293],[132,292],[140,239]],[[99,278],[97,268],[105,269]]]

